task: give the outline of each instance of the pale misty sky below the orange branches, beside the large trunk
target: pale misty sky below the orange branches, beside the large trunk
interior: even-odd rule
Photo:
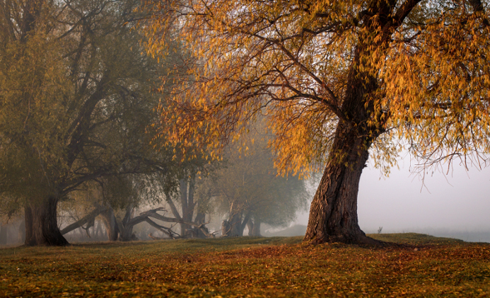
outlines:
[[[392,168],[390,177],[368,166],[358,195],[359,225],[366,233],[408,232],[421,229],[490,230],[490,168],[453,166],[448,175],[435,172],[425,178],[410,173],[409,157]],[[297,224],[307,224],[300,214]]]

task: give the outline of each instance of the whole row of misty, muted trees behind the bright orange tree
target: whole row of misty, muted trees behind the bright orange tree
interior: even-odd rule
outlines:
[[[161,137],[159,109],[181,84],[173,71],[185,67],[185,48],[146,55],[140,4],[1,2],[2,243],[13,222],[20,236],[10,238],[29,246],[64,245],[91,227],[129,241],[144,222],[170,239],[245,227],[258,236],[261,224],[287,225],[305,206],[303,180],[277,175],[260,125],[212,160],[184,159]],[[208,229],[211,217],[222,229]]]

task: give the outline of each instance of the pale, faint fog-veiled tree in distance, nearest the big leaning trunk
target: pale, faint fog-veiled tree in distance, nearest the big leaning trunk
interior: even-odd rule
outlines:
[[[243,236],[247,226],[250,236],[260,236],[261,224],[287,226],[306,204],[305,180],[279,176],[267,135],[252,131],[227,147],[223,168],[206,185],[226,214],[223,236]]]

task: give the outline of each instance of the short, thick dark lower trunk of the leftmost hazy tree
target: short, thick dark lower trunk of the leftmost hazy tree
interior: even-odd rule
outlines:
[[[30,200],[25,204],[25,246],[65,246],[68,241],[59,231],[56,197]]]

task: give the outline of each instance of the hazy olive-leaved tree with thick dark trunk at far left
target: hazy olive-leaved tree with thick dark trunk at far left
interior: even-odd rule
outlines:
[[[138,5],[0,2],[0,195],[23,207],[26,245],[67,243],[57,204],[84,183],[171,161],[149,145],[161,65],[142,48]]]

